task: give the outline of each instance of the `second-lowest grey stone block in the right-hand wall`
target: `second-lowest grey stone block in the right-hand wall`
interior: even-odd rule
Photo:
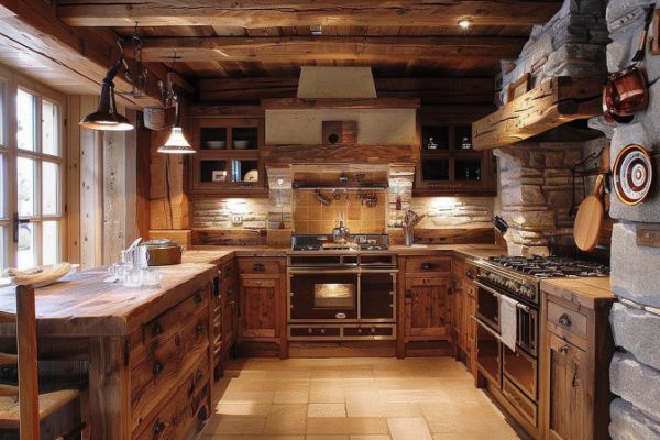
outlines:
[[[637,362],[629,353],[616,353],[609,366],[612,392],[660,420],[660,371]]]

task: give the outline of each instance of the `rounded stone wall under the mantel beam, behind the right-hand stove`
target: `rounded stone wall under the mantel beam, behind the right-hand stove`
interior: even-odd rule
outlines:
[[[585,152],[602,148],[605,142],[605,138],[588,142],[524,142],[495,151],[499,167],[496,211],[509,223],[509,254],[547,255],[551,244],[572,243],[571,169]],[[581,182],[578,189],[575,204],[583,198]]]

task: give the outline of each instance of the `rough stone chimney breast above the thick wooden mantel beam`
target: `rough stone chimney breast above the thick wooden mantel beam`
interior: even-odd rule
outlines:
[[[506,102],[509,84],[530,74],[532,87],[556,75],[602,76],[604,46],[608,43],[606,0],[564,0],[561,10],[546,24],[532,29],[516,61],[502,62],[501,102]]]

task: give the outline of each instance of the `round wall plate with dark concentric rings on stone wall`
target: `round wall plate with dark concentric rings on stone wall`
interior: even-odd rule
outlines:
[[[653,166],[650,154],[637,144],[626,146],[614,162],[614,188],[626,205],[642,202],[651,191]]]

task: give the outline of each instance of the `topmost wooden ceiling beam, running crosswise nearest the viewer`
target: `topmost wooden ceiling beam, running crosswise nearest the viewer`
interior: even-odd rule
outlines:
[[[74,26],[455,26],[544,23],[561,1],[428,0],[61,0]]]

